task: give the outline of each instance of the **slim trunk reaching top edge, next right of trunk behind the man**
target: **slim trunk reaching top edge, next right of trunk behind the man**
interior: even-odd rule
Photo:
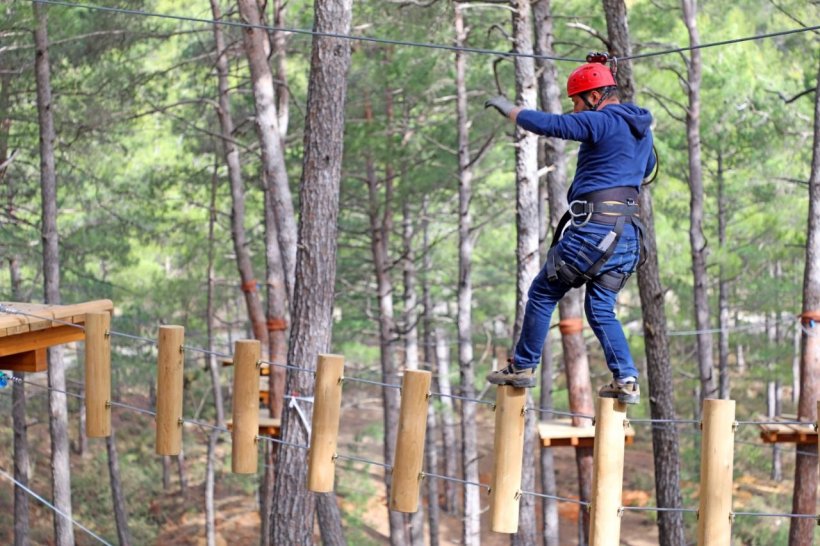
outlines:
[[[697,27],[697,0],[681,0],[683,20],[689,31],[690,47],[700,45]],[[695,302],[695,329],[698,330],[698,366],[701,401],[714,398],[717,388],[713,374],[712,334],[709,332],[709,277],[706,274],[706,238],[703,236],[703,165],[700,159],[700,49],[689,53],[686,109],[686,141],[689,145],[689,244],[692,249],[692,278]]]

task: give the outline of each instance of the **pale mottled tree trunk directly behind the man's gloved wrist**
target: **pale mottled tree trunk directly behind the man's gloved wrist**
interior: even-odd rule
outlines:
[[[517,53],[532,54],[532,14],[528,0],[512,0],[513,50]],[[535,108],[538,88],[535,79],[535,61],[532,57],[516,57],[515,95],[516,102],[524,108]],[[524,322],[524,307],[532,280],[538,274],[538,136],[521,127],[515,129],[515,187],[517,234],[516,262],[516,313],[515,337],[521,332]],[[531,401],[531,397],[527,398]],[[521,476],[522,487],[532,490],[535,484],[535,455],[532,444],[535,441],[536,416],[528,412],[524,432],[524,467]],[[512,544],[531,545],[536,540],[535,502],[532,496],[521,498],[519,507],[518,533],[512,537]]]

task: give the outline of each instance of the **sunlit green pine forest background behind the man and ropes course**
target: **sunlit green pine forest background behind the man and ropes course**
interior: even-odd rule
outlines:
[[[226,19],[247,20],[238,13],[238,4],[217,0],[211,5],[169,0],[95,2],[173,18],[60,2],[41,8],[48,13],[62,302],[111,299],[116,307],[114,330],[153,339],[161,324],[183,325],[186,345],[223,354],[232,352],[235,340],[254,337],[246,300],[248,283],[258,282],[258,293],[265,298],[269,282],[264,272],[271,247],[265,229],[270,221],[264,191],[269,174],[262,161],[265,144],[260,144],[256,129],[252,72],[243,41],[246,30],[219,27],[220,45],[213,25],[203,22],[219,10]],[[688,45],[679,2],[631,0],[626,5],[633,55]],[[413,360],[420,360],[423,367],[433,355],[439,364],[452,360],[453,392],[472,392],[489,399],[484,376],[513,342],[516,184],[513,126],[485,110],[483,104],[499,92],[515,96],[512,59],[492,53],[511,49],[511,8],[494,1],[460,6],[466,25],[460,43],[474,49],[464,53],[473,176],[469,306],[474,385],[468,391],[458,385],[455,53],[420,46],[456,42],[454,5],[449,1],[359,1],[353,5],[351,34],[395,43],[351,42],[331,352],[345,356],[346,375],[379,379],[387,339],[397,369]],[[262,8],[263,23],[272,27],[310,29],[314,25],[314,6],[309,1],[269,0]],[[40,152],[32,37],[36,21],[30,2],[5,0],[0,9],[0,300],[42,302]],[[577,61],[589,51],[607,49],[600,2],[566,0],[555,2],[551,9],[557,56]],[[703,0],[697,24],[701,42],[718,42],[816,25],[819,10],[816,1],[805,0]],[[729,397],[738,401],[738,419],[796,413],[799,377],[795,370],[799,369],[801,333],[796,316],[802,305],[814,90],[820,60],[816,32],[701,50],[707,291],[711,327],[717,332],[723,287],[727,344],[721,352],[716,341],[714,354],[716,366],[720,353],[728,367],[726,386]],[[279,101],[284,180],[290,185],[298,222],[311,36],[301,31],[271,30],[268,34],[273,53],[267,53]],[[217,48],[224,55],[217,55]],[[632,70],[636,102],[655,118],[660,171],[649,188],[665,289],[675,409],[681,418],[695,419],[700,376],[688,233],[686,55],[668,52],[638,58]],[[220,60],[227,62],[221,65]],[[577,65],[570,60],[556,62],[560,85]],[[230,96],[233,127],[229,138],[224,136],[224,119],[220,120],[220,112],[225,111],[219,102],[220,85]],[[569,100],[562,101],[569,111]],[[236,151],[239,171],[229,172],[225,141]],[[565,153],[571,177],[577,144],[568,143]],[[232,177],[238,177],[241,185],[232,188]],[[244,196],[244,217],[237,210],[237,191]],[[542,214],[547,214],[543,199],[541,205]],[[232,222],[237,218],[244,228],[241,242],[237,242],[237,226]],[[542,232],[541,248],[548,244],[548,236],[551,233]],[[241,274],[238,252],[249,260]],[[255,271],[256,276],[248,276],[248,271]],[[384,298],[389,299],[389,322],[385,322]],[[618,314],[632,353],[641,363],[639,368],[645,368],[635,281],[622,292]],[[431,325],[430,336],[418,333],[422,315]],[[559,336],[550,339],[553,355],[560,355]],[[588,329],[584,339],[593,385],[602,383],[607,370],[600,346]],[[120,337],[113,340],[113,350],[114,398],[134,407],[152,407],[154,348],[139,339]],[[69,391],[79,392],[82,387],[81,352],[79,346],[66,353]],[[186,354],[184,414],[215,422],[221,421],[217,413],[222,410],[214,402],[214,359],[210,356]],[[560,358],[556,357],[554,368],[552,404],[562,409],[568,405],[568,392]],[[232,372],[219,370],[221,392],[230,407]],[[41,494],[50,490],[47,389],[35,385],[45,385],[44,377],[26,377],[32,383],[27,386],[29,485]],[[643,388],[649,398],[649,389]],[[0,469],[4,472],[11,472],[14,457],[10,391],[0,390]],[[533,396],[538,399],[538,394]],[[349,423],[350,428],[343,430],[339,451],[382,460],[385,430],[380,390],[346,386],[344,402],[342,426]],[[106,473],[106,450],[101,442],[87,443],[81,437],[80,401],[70,397],[68,404],[73,516],[94,532],[114,537],[111,493],[100,480]],[[438,414],[447,411],[445,404],[435,408]],[[630,409],[632,418],[648,415],[648,403]],[[490,419],[486,415],[479,418],[479,441],[491,447]],[[177,487],[170,478],[170,462],[153,453],[152,421],[125,410],[115,411],[114,420],[133,543],[200,543],[208,431],[186,429],[186,462],[179,462]],[[694,432],[690,429],[679,427],[686,507],[697,506],[699,468],[697,435],[690,434]],[[627,459],[630,451],[651,453],[648,427],[637,428],[637,433]],[[788,513],[794,446],[773,451],[760,443],[752,427],[741,427],[737,439],[735,478],[741,485],[736,507]],[[229,447],[220,443],[216,449],[217,506],[228,510],[231,503],[244,503],[250,512],[261,509],[265,466],[259,477],[232,475]],[[571,456],[567,457],[564,468],[573,473]],[[638,465],[631,474],[629,464],[627,468],[629,488],[646,492],[641,502],[655,505],[651,475]],[[373,507],[374,499],[384,495],[380,482],[375,468],[340,465],[336,485],[350,544],[387,540],[379,534],[387,530],[376,529],[374,521],[387,519],[386,509],[378,503]],[[0,483],[0,542],[11,543],[13,488],[11,482]],[[559,479],[558,494],[577,498],[576,487],[562,483],[572,482]],[[219,499],[225,504],[220,505]],[[457,521],[458,509],[448,508],[445,512]],[[31,514],[30,540],[45,543],[52,532],[51,514],[36,503]],[[637,529],[633,535],[638,536],[653,528],[652,518],[645,513],[630,514],[623,525]],[[199,523],[186,527],[191,521]],[[217,527],[220,521],[217,516]],[[685,522],[691,542],[694,515],[686,514]],[[456,530],[451,530],[449,538],[442,534],[442,544],[459,540],[457,524],[451,525]],[[248,526],[257,536],[251,533],[245,538],[256,543],[258,518]],[[562,532],[560,544],[577,543],[572,524],[562,526]],[[482,533],[486,544],[498,538],[489,538],[483,526]],[[738,518],[734,525],[739,544],[786,544],[787,534],[788,522],[778,518]],[[80,531],[77,541],[92,543]]]

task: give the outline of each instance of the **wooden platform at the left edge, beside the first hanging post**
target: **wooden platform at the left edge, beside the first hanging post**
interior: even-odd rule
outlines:
[[[111,300],[74,305],[0,303],[27,313],[0,313],[0,369],[14,372],[45,371],[48,367],[46,349],[85,339],[85,330],[63,323],[83,324],[86,313],[111,312],[114,309]],[[36,315],[37,318],[29,315]]]

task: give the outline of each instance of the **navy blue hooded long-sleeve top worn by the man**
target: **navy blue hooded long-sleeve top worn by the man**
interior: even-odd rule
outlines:
[[[574,114],[522,110],[516,123],[539,135],[581,143],[575,178],[567,192],[570,201],[617,186],[640,191],[641,182],[655,168],[652,114],[631,103]]]

